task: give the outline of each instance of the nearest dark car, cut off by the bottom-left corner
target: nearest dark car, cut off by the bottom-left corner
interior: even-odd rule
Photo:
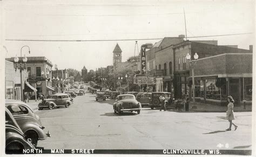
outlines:
[[[5,108],[5,153],[23,154],[23,149],[35,149],[35,146],[25,136],[11,112]]]

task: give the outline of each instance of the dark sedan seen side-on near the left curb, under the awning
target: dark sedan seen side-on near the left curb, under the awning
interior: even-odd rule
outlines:
[[[39,110],[44,108],[53,109],[65,106],[68,108],[71,105],[71,99],[65,93],[58,93],[52,95],[50,99],[44,99],[41,103],[38,104]]]

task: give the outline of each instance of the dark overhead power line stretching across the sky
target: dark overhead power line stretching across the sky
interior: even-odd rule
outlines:
[[[237,33],[237,34],[221,34],[221,35],[206,35],[197,37],[187,37],[187,38],[205,38],[205,37],[222,37],[230,35],[242,35],[242,34],[252,34],[252,33]],[[65,41],[65,42],[86,42],[86,41],[131,41],[131,40],[160,40],[163,38],[140,38],[140,39],[97,39],[97,40],[52,40],[52,39],[5,39],[6,41]]]

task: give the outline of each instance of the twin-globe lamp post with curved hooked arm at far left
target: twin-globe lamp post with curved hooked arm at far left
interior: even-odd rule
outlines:
[[[29,46],[23,46],[23,47],[28,47],[29,48]],[[21,58],[22,58],[22,48],[21,48]],[[30,53],[30,48],[29,48],[29,53]],[[22,61],[21,61],[20,65],[19,65],[19,67],[18,67],[18,61],[19,61],[19,58],[16,55],[15,58],[14,58],[15,72],[17,71],[17,68],[18,68],[19,69],[19,73],[21,73],[21,101],[24,101],[24,98],[23,98],[23,87],[22,87],[22,84],[23,84],[23,81],[22,81],[22,70],[26,69],[26,62],[28,61],[28,58],[26,58],[26,56],[24,55],[24,57],[22,58]],[[24,67],[22,67],[22,62],[24,62]]]

